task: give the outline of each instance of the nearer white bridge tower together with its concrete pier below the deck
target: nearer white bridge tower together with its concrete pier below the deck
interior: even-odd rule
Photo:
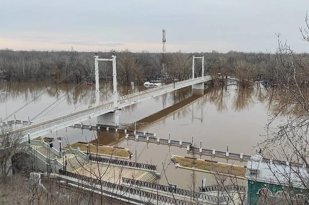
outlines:
[[[96,119],[97,126],[100,127],[111,127],[117,128],[119,126],[119,111],[118,111],[118,93],[117,93],[117,74],[116,74],[116,55],[113,52],[112,57],[109,59],[99,58],[98,54],[95,53],[93,56],[95,59],[95,94],[96,106],[100,105],[100,86],[99,86],[99,61],[112,61],[113,65],[113,107],[114,111],[106,113],[104,115],[99,115]]]

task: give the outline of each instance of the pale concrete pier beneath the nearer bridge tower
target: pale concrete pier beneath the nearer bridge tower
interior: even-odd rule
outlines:
[[[119,126],[119,110],[108,112],[97,117],[97,127],[118,128]]]

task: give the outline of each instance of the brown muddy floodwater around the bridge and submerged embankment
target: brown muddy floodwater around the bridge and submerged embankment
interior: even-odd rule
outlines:
[[[9,120],[14,118],[28,121],[72,110],[76,107],[86,106],[95,102],[95,87],[87,87],[86,84],[76,86],[73,84],[60,84],[53,86],[49,82],[1,82],[1,92],[11,92],[0,95],[0,117],[4,119],[7,114],[11,115],[33,98],[41,95],[45,90],[51,88],[39,98],[29,103],[26,107],[13,114]],[[72,90],[71,90],[72,89]],[[144,86],[118,86],[119,95],[130,92],[146,90]],[[71,90],[71,91],[70,91]],[[67,92],[69,94],[67,94]],[[149,131],[156,133],[161,139],[193,141],[205,149],[228,151],[232,153],[243,153],[251,155],[256,153],[256,144],[263,140],[266,132],[264,130],[269,114],[268,102],[260,102],[259,95],[263,90],[243,90],[235,85],[220,89],[207,88],[203,95],[192,95],[191,87],[186,87],[175,92],[170,92],[159,97],[151,98],[142,103],[133,104],[120,111],[119,128],[134,130],[134,124],[138,131]],[[100,100],[111,98],[112,82],[101,84]],[[95,118],[84,121],[85,125],[95,126]],[[89,131],[73,129],[68,127],[60,131],[45,135],[46,137],[65,137],[66,143],[95,142],[99,135],[99,143],[105,145],[128,148],[134,156],[135,150],[137,162],[151,163],[158,166],[162,175],[161,184],[177,184],[178,188],[188,189],[192,187],[192,171],[175,169],[175,164],[170,162],[171,153],[180,156],[191,156],[186,153],[186,148],[168,147],[145,142],[135,143],[127,141],[124,135],[106,133],[100,131]],[[59,149],[59,143],[54,143]],[[199,157],[199,156],[198,156]],[[201,159],[207,159],[203,157]],[[224,159],[217,159],[225,162]],[[230,160],[229,163],[232,163]],[[246,163],[233,162],[245,166]],[[163,171],[163,164],[166,168]],[[195,187],[201,186],[201,180],[206,177],[207,185],[213,183],[210,175],[205,173],[196,174]],[[166,177],[165,177],[166,176]],[[197,189],[197,188],[196,188]]]

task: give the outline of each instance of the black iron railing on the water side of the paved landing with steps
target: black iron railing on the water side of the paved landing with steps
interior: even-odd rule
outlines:
[[[118,166],[126,166],[126,167],[134,167],[138,169],[146,169],[150,171],[157,171],[157,166],[151,165],[151,164],[143,164],[143,163],[137,163],[137,162],[130,162],[130,161],[124,161],[124,160],[118,160],[118,159],[110,159],[110,158],[103,158],[103,157],[95,157],[95,156],[89,156],[89,159],[91,161],[101,162],[101,163],[107,163],[107,164],[114,164]]]

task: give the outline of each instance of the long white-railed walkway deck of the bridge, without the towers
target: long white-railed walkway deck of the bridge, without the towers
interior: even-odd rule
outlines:
[[[24,140],[26,141],[25,137],[28,136],[28,134],[32,136],[32,138],[35,138],[49,132],[56,131],[57,127],[59,127],[60,129],[64,127],[69,127],[74,124],[74,122],[82,122],[84,120],[90,119],[91,117],[103,115],[105,113],[132,105],[134,102],[141,102],[143,100],[153,98],[161,94],[171,92],[173,90],[178,90],[180,88],[191,86],[208,80],[211,80],[211,77],[204,76],[204,78],[200,77],[176,82],[175,85],[172,83],[149,90],[143,90],[137,93],[119,97],[117,100],[117,107],[113,106],[113,102],[111,99],[109,101],[91,104],[85,107],[74,109],[72,111],[66,111],[43,119],[38,119],[31,122],[32,125],[30,123],[30,125],[22,124],[20,126],[13,126],[11,128],[7,128],[5,131],[11,131],[12,134],[15,134],[15,132],[18,131],[18,135],[23,136]],[[17,129],[15,130],[15,128]]]

